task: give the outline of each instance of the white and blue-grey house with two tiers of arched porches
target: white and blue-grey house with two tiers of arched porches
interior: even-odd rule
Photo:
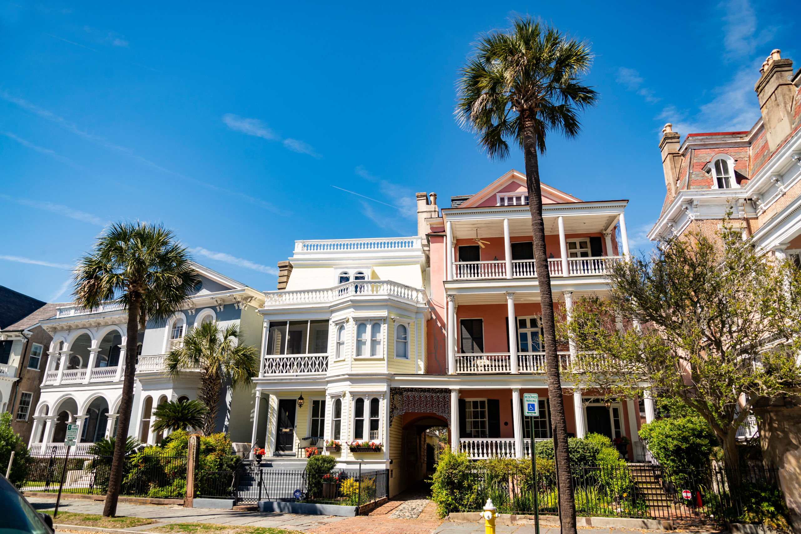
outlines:
[[[179,345],[188,329],[205,321],[222,326],[237,324],[243,343],[258,347],[264,293],[252,289],[203,265],[195,264],[200,282],[183,309],[168,321],[148,321],[137,344],[134,408],[127,435],[154,444],[163,436],[152,432],[153,411],[165,401],[197,397],[198,372],[191,369],[170,377],[164,358]],[[33,454],[60,452],[66,424],[78,423],[78,445],[83,453],[97,440],[116,436],[116,419],[123,393],[123,371],[127,343],[127,310],[110,303],[98,309],[66,305],[55,317],[42,321],[53,336],[50,359],[42,373],[42,395],[34,414],[30,436]],[[248,441],[252,428],[252,390],[228,389],[220,406],[220,431],[230,432],[235,441]]]

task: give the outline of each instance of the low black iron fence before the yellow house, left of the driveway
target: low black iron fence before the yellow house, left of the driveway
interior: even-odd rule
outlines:
[[[388,496],[389,490],[386,469],[323,475],[243,464],[238,475],[235,498],[239,504],[273,500],[360,506]]]

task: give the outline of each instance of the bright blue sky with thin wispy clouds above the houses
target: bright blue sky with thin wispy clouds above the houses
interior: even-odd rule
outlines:
[[[449,205],[524,169],[453,118],[471,43],[515,14],[596,54],[600,102],[578,139],[550,137],[542,180],[630,199],[647,247],[664,123],[747,130],[763,59],[797,56],[795,2],[378,3],[2,1],[0,285],[68,301],[70,265],[121,218],[262,290],[296,239],[413,235],[415,192]]]

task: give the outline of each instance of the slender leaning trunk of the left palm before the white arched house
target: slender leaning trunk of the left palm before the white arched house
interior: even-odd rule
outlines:
[[[113,517],[117,513],[119,488],[123,482],[125,467],[125,445],[128,437],[128,424],[131,422],[131,408],[134,404],[134,376],[136,373],[136,342],[139,340],[139,296],[131,295],[128,306],[128,327],[125,343],[125,375],[123,378],[123,394],[119,400],[119,417],[117,417],[117,439],[114,444],[114,456],[111,460],[111,472],[108,477],[108,492],[103,506],[103,517]],[[119,363],[117,364],[119,365]]]

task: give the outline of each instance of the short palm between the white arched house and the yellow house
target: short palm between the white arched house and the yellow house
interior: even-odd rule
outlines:
[[[183,344],[167,354],[165,366],[174,377],[183,369],[200,369],[198,398],[208,408],[203,416],[203,433],[207,436],[214,432],[223,382],[238,388],[252,384],[251,379],[259,373],[256,349],[239,345],[239,341],[236,325],[223,328],[216,321],[208,321],[191,329]]]

